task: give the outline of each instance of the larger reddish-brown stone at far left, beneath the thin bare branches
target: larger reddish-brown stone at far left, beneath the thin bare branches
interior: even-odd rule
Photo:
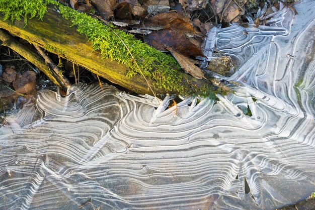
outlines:
[[[36,73],[34,71],[25,71],[22,74],[18,73],[13,87],[17,92],[29,93],[36,87]]]

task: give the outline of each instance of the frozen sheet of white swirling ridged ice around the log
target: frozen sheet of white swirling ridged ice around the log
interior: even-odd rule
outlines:
[[[302,1],[270,26],[219,30],[216,47],[240,66],[225,79],[240,86],[218,102],[166,109],[174,96],[105,84],[41,91],[0,128],[0,208],[272,209],[304,199],[315,191],[314,9]]]

